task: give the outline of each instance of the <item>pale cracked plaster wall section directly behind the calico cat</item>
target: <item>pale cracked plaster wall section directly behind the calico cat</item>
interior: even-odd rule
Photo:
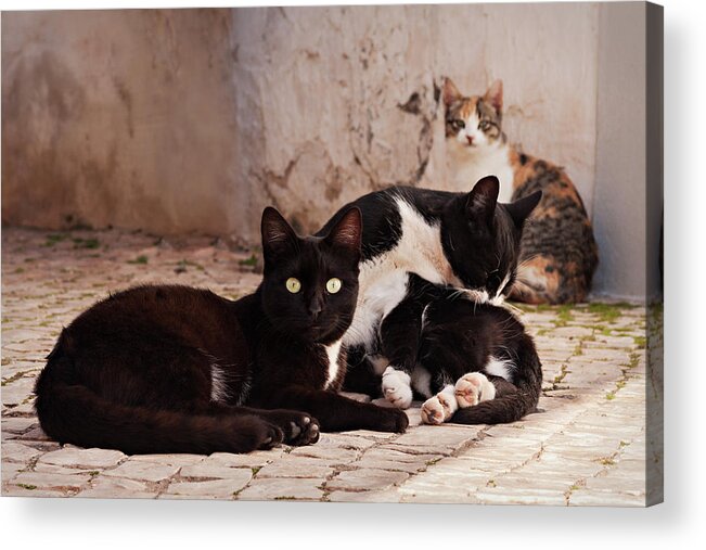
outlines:
[[[274,203],[315,229],[372,189],[447,188],[442,75],[467,92],[502,78],[510,138],[568,166],[590,207],[596,26],[594,4],[234,11],[252,214]]]

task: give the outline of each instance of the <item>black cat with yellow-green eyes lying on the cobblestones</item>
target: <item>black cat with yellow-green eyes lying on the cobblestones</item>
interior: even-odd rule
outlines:
[[[299,238],[267,208],[261,233],[254,294],[139,286],[64,329],[35,388],[47,434],[127,453],[210,453],[307,445],[319,429],[405,431],[403,412],[335,393],[358,296],[360,212]]]

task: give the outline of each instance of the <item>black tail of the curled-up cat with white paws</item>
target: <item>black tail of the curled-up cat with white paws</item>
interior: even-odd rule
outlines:
[[[497,379],[495,399],[459,409],[450,422],[457,424],[505,424],[534,412],[542,388],[542,367],[531,337],[522,336],[517,348],[514,384]]]

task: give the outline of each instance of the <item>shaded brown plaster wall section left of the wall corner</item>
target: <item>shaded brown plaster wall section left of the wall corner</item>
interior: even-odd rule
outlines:
[[[2,16],[2,219],[238,229],[231,12]]]

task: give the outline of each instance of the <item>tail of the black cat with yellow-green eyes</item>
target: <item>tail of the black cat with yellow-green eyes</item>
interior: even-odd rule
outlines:
[[[248,452],[282,440],[279,429],[253,414],[191,415],[113,402],[86,385],[61,380],[67,360],[50,356],[35,387],[41,427],[60,443],[128,455],[207,455]]]

